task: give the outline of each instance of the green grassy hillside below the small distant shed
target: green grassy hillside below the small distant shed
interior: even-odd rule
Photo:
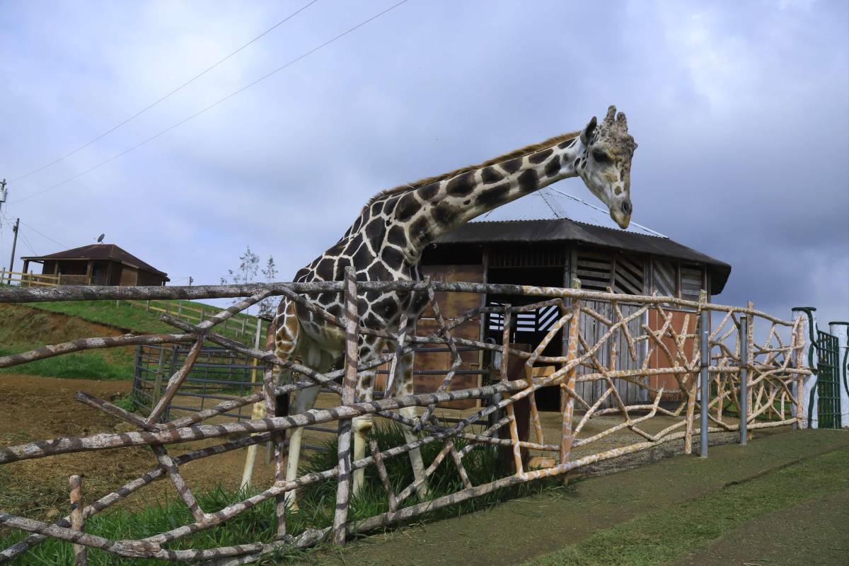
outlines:
[[[220,307],[194,301],[83,300],[0,305],[0,356],[93,336],[124,333],[179,332],[159,320],[161,312],[198,323]],[[219,333],[253,345],[256,317],[237,315]],[[262,322],[265,335],[267,322]],[[88,350],[0,369],[0,373],[29,373],[58,378],[130,379],[134,349]]]

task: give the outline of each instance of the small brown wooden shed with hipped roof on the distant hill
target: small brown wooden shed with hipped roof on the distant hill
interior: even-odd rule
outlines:
[[[24,272],[42,264],[43,275],[59,276],[61,285],[164,285],[166,272],[141,261],[115,244],[91,244],[55,254],[20,258]]]

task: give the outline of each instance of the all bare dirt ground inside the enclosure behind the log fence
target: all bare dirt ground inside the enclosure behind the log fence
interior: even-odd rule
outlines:
[[[81,390],[107,401],[115,400],[121,395],[127,395],[131,389],[130,382],[95,381],[88,379],[60,379],[26,374],[8,373],[0,376],[0,399],[3,399],[3,412],[0,413],[0,446],[11,446],[33,440],[46,440],[60,436],[84,436],[99,432],[122,432],[132,430],[120,419],[110,417],[74,400],[76,391]],[[199,406],[197,397],[177,397],[179,404],[184,406]],[[216,401],[206,400],[206,406]],[[335,406],[338,397],[322,394],[318,397],[316,406]],[[250,408],[249,408],[250,409]],[[464,411],[437,409],[438,417],[464,417],[473,409]],[[171,418],[190,414],[188,412],[172,411]],[[250,414],[250,413],[249,413]],[[557,444],[560,432],[559,413],[541,412],[545,441]],[[227,423],[233,419],[216,417],[208,423]],[[599,431],[621,422],[618,417],[599,417],[588,422],[579,438],[587,438]],[[669,417],[655,417],[641,425],[649,434],[672,423]],[[324,425],[333,427],[334,423]],[[307,430],[304,434],[305,445],[323,446],[331,435],[323,432]],[[536,440],[531,427],[531,440]],[[610,434],[589,446],[575,449],[576,456],[607,450],[616,446],[625,446],[643,440],[637,434],[625,429]],[[217,444],[220,440],[206,440],[171,446],[172,456],[187,451],[196,450],[202,446]],[[245,450],[231,451],[197,462],[189,462],[181,467],[181,473],[189,486],[203,487],[222,484],[235,489],[239,486],[242,469],[245,463]],[[270,485],[273,482],[273,466],[267,463],[266,450],[261,447],[258,451],[254,482],[256,485]],[[532,451],[531,456],[543,455],[542,452]],[[8,493],[20,494],[14,498],[0,496],[0,508],[12,513],[26,513],[32,518],[44,518],[54,507],[64,505],[66,497],[67,478],[71,474],[82,474],[87,477],[86,491],[89,496],[100,496],[108,493],[118,485],[131,479],[138,478],[149,469],[155,468],[155,457],[149,450],[143,448],[119,449],[109,451],[87,451],[76,454],[65,454],[49,458],[14,462],[0,468],[0,488],[5,486]],[[3,490],[0,489],[0,493]],[[25,493],[40,494],[37,497],[25,497]],[[174,495],[170,482],[160,481],[139,490],[129,496],[120,505],[133,506],[147,503],[151,496]],[[61,503],[60,503],[61,502]]]

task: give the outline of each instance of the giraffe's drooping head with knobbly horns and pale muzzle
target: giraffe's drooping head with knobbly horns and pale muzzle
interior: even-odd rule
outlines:
[[[616,106],[607,109],[601,124],[595,116],[581,132],[585,154],[579,160],[577,173],[587,188],[610,210],[610,218],[621,228],[631,222],[631,158],[637,143],[628,134],[623,113]]]

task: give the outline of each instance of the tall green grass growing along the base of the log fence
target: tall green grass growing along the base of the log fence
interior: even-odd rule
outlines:
[[[390,446],[397,446],[404,442],[402,431],[396,423],[379,423],[373,429],[372,438],[377,440],[379,446],[384,449]],[[460,441],[457,444],[458,448],[463,446]],[[329,442],[326,447],[329,449],[327,452],[315,452],[312,454],[312,457],[301,468],[301,474],[335,467],[337,463],[335,440]],[[422,456],[424,457],[424,462],[431,462],[441,450],[441,447],[441,443],[438,442],[423,446]],[[499,471],[498,461],[494,452],[486,447],[476,447],[475,450],[469,452],[469,455],[464,458],[464,465],[475,485],[492,481],[492,479],[497,479],[503,475]],[[394,483],[396,492],[413,480],[413,471],[410,467],[409,459],[404,455],[389,459],[386,462],[386,468]],[[447,495],[463,488],[450,457],[446,458],[440,467],[436,469],[435,474],[431,476],[429,487],[429,497],[433,498]],[[451,508],[438,510],[430,513],[428,518],[442,518],[461,513],[470,513],[515,496],[527,495],[539,489],[539,484],[520,485],[516,488],[501,490],[472,501],[462,502]],[[336,483],[333,480],[310,485],[301,490],[298,494],[300,511],[297,513],[287,513],[286,523],[290,535],[298,535],[308,528],[321,529],[333,524],[335,490]],[[58,501],[58,495],[57,497],[53,497],[53,499]],[[216,486],[208,490],[199,490],[196,493],[200,506],[207,512],[226,507],[230,503],[244,499],[246,495],[249,494],[233,492],[221,486]],[[65,494],[61,494],[61,496],[64,499]],[[405,504],[413,503],[416,500],[417,496],[413,495]],[[57,502],[56,505],[59,508],[63,508],[62,503]],[[384,513],[385,511],[388,511],[385,491],[380,486],[380,479],[377,476],[374,466],[372,466],[366,470],[366,483],[362,492],[359,496],[351,500],[349,520],[357,521]],[[420,522],[422,519],[416,518],[414,520]],[[164,530],[171,530],[180,524],[188,524],[193,521],[194,519],[188,512],[188,509],[183,505],[183,502],[168,499],[155,502],[138,510],[121,508],[95,516],[87,521],[86,531],[111,540],[138,539],[155,535]],[[274,502],[273,500],[269,500],[240,514],[220,527],[201,531],[200,533],[176,541],[168,545],[168,547],[171,549],[211,548],[213,546],[228,546],[250,541],[270,542],[274,540],[276,526]],[[14,542],[20,541],[25,535],[25,533],[14,532],[11,535],[0,537],[0,548],[5,548],[14,544]],[[261,563],[289,563],[292,559],[304,558],[305,552],[316,552],[316,550],[295,551],[290,549],[280,552],[275,556],[263,558]],[[44,541],[31,552],[25,553],[14,564],[36,566],[42,564],[72,563],[73,554],[70,544],[51,539]],[[130,564],[133,566],[147,566],[160,564],[161,562],[139,558],[117,558],[106,552],[89,549],[89,563],[93,566],[105,566],[107,564],[110,566],[129,566]]]

